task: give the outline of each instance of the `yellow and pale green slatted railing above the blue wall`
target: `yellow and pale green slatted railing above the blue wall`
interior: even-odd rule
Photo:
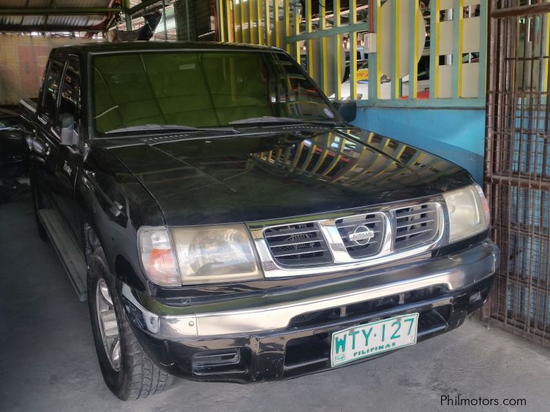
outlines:
[[[217,0],[219,38],[285,49],[329,97],[362,106],[485,105],[487,0],[325,3]]]

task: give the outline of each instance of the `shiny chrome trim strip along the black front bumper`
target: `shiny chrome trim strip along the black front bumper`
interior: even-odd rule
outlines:
[[[461,253],[434,258],[412,267],[373,273],[368,279],[371,284],[368,288],[259,308],[159,315],[151,308],[144,308],[130,286],[122,285],[122,295],[142,313],[146,327],[141,326],[141,329],[144,332],[157,339],[182,340],[283,329],[298,314],[380,299],[428,286],[444,285],[450,291],[457,290],[492,275],[497,265],[498,248],[490,240],[485,240]],[[155,301],[155,306],[159,308],[162,304]],[[126,308],[129,317],[134,316],[131,312]]]

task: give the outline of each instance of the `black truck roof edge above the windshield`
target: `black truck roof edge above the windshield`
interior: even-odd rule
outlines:
[[[75,54],[76,56],[85,56],[94,53],[117,53],[131,50],[170,50],[170,49],[188,49],[188,50],[208,50],[208,49],[227,49],[229,50],[271,50],[278,51],[276,47],[261,45],[245,45],[239,43],[220,43],[210,41],[129,41],[122,43],[83,43],[81,45],[69,45],[55,47],[52,54]]]

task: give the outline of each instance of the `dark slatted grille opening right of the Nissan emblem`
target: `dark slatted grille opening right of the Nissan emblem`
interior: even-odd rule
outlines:
[[[393,250],[398,251],[430,242],[438,233],[439,214],[434,203],[396,209]]]

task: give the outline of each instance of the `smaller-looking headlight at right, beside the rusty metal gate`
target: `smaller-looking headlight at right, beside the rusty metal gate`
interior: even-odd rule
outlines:
[[[443,194],[449,212],[450,238],[456,242],[481,233],[489,226],[489,205],[478,185]]]

